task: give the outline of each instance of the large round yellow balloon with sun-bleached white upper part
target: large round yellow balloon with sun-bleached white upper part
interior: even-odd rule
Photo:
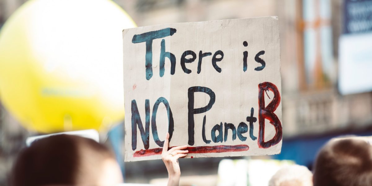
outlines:
[[[27,129],[106,130],[124,119],[122,30],[110,0],[30,0],[0,32],[0,99]]]

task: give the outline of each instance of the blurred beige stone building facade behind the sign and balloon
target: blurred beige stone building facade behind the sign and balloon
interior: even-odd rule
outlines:
[[[0,26],[25,0],[0,0]],[[339,38],[344,30],[345,0],[115,0],[138,26],[175,22],[278,16],[282,72],[283,140],[331,134],[372,135],[371,92],[341,95],[338,90]],[[372,7],[371,7],[372,9]],[[342,74],[341,74],[342,75]],[[371,77],[367,77],[371,78]],[[1,109],[0,163],[8,163],[32,132]],[[124,144],[124,143],[123,143]],[[283,142],[283,147],[285,142]],[[283,149],[284,150],[284,149]],[[284,151],[282,154],[285,153]],[[285,154],[281,157],[285,157]],[[291,156],[287,156],[291,157]],[[219,159],[187,160],[199,167],[186,174],[217,173]],[[11,163],[8,163],[11,164]],[[196,165],[198,164],[198,165]],[[136,181],[164,174],[161,161],[127,163]],[[3,167],[3,166],[0,166]],[[146,168],[147,167],[147,168]],[[154,168],[150,168],[154,167]],[[202,167],[205,167],[203,169]],[[0,169],[5,175],[10,165]],[[144,171],[146,169],[146,171]],[[215,169],[215,171],[210,171]],[[209,170],[209,171],[208,171]],[[3,179],[0,177],[0,179]],[[131,179],[129,179],[131,180]],[[0,182],[1,184],[1,182]]]

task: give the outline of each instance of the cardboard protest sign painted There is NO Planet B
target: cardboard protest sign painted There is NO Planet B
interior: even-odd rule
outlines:
[[[278,154],[278,17],[171,23],[123,31],[125,161]]]

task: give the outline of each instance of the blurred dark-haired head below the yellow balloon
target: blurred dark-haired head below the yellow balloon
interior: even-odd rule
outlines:
[[[94,140],[74,135],[42,138],[19,154],[13,186],[113,185],[122,181],[110,150]]]

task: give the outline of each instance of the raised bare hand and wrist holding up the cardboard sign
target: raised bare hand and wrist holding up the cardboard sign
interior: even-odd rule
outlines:
[[[181,170],[178,163],[178,158],[183,158],[189,152],[185,150],[187,145],[173,147],[168,150],[169,146],[169,133],[167,132],[166,138],[164,140],[163,152],[161,153],[161,159],[163,159],[165,166],[168,171],[168,186],[179,185]]]

